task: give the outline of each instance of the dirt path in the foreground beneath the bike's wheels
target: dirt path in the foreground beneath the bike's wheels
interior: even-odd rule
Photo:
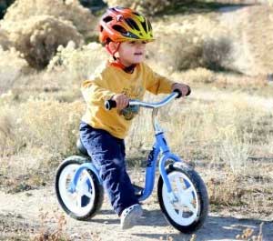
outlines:
[[[8,233],[13,231],[24,232],[34,229],[37,233],[42,225],[40,215],[48,212],[48,216],[61,216],[63,211],[59,209],[53,186],[40,190],[27,191],[15,195],[0,193],[0,240],[7,240]],[[119,229],[119,220],[116,214],[105,201],[102,210],[88,222],[76,221],[66,216],[66,233],[73,240],[119,240],[119,241],[152,241],[152,240],[189,240],[191,236],[179,234],[171,226],[167,225],[162,216],[155,198],[144,203],[145,216],[139,226],[123,232]],[[42,211],[41,211],[42,209]],[[211,213],[206,225],[197,232],[196,240],[237,240],[236,236],[242,234],[247,227],[258,234],[262,220],[241,219],[232,216],[218,216]],[[51,229],[56,228],[56,220],[45,224]],[[263,225],[264,241],[273,240],[273,225],[265,221]],[[114,232],[115,231],[115,232]],[[173,239],[167,239],[171,236]],[[21,239],[15,239],[21,240]]]

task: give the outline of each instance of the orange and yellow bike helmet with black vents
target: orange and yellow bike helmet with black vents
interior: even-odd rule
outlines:
[[[152,25],[143,15],[130,8],[108,8],[99,23],[99,40],[103,44],[110,41],[153,41]]]

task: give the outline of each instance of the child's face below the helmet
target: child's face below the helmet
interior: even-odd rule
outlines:
[[[145,41],[122,42],[118,48],[117,54],[123,65],[135,65],[141,63],[146,53]]]

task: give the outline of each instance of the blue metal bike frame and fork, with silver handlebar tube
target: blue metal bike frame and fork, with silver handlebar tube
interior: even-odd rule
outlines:
[[[129,105],[138,105],[143,106],[147,108],[153,108],[153,126],[155,130],[155,144],[153,146],[153,149],[150,151],[148,158],[147,158],[147,167],[146,167],[146,181],[145,181],[145,187],[141,192],[141,195],[138,197],[139,201],[143,201],[147,199],[148,196],[151,195],[154,185],[155,185],[155,179],[156,179],[156,169],[157,169],[157,158],[160,154],[162,154],[160,160],[159,160],[159,173],[162,176],[162,179],[167,186],[167,193],[169,194],[171,200],[175,202],[177,200],[177,197],[174,195],[172,191],[172,187],[169,183],[169,180],[167,178],[167,172],[166,172],[166,162],[167,160],[172,160],[173,162],[182,162],[182,160],[170,152],[169,147],[167,146],[167,141],[164,136],[164,132],[161,129],[161,127],[157,124],[156,115],[157,115],[157,108],[166,105],[170,100],[177,97],[177,93],[173,93],[169,96],[167,96],[166,99],[164,99],[162,102],[157,104],[148,104],[145,102],[140,102],[136,100],[131,100]],[[76,173],[72,178],[72,181],[69,186],[70,192],[76,191],[76,183],[79,179],[79,176],[81,175],[82,171],[85,169],[90,169],[93,171],[93,173],[97,176],[100,183],[102,183],[102,179],[98,175],[98,170],[96,169],[96,166],[92,162],[88,162],[85,164],[82,164],[76,169]]]

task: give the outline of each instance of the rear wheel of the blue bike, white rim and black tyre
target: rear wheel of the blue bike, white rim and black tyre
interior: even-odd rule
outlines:
[[[69,191],[76,169],[88,161],[82,156],[67,158],[56,171],[55,189],[60,206],[66,214],[78,220],[87,220],[96,215],[103,203],[104,190],[96,174],[85,169],[79,176],[76,191]]]

